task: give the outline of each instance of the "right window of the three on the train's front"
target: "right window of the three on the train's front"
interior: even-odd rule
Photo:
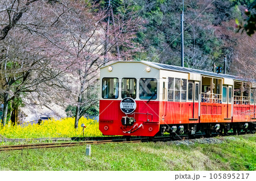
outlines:
[[[156,99],[158,82],[155,78],[139,79],[139,98]]]

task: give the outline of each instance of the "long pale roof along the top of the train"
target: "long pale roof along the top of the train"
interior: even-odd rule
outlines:
[[[205,71],[205,70],[197,70],[197,69],[191,69],[191,68],[183,68],[181,66],[175,66],[175,65],[167,65],[167,64],[160,64],[157,62],[148,62],[148,61],[116,61],[113,62],[112,64],[108,64],[106,66],[110,66],[113,64],[121,63],[121,62],[141,62],[143,64],[146,64],[148,66],[152,66],[153,68],[159,69],[159,70],[171,70],[171,71],[179,71],[183,73],[195,73],[195,74],[201,74],[201,75],[206,75],[210,77],[218,77],[218,78],[229,78],[229,79],[234,79],[237,81],[246,81],[248,82],[248,79],[244,79],[242,77],[238,77],[235,75],[229,75],[229,74],[217,74],[213,73],[210,71]],[[105,68],[106,66],[103,66],[102,68]],[[255,82],[255,80],[251,80],[251,82]]]

